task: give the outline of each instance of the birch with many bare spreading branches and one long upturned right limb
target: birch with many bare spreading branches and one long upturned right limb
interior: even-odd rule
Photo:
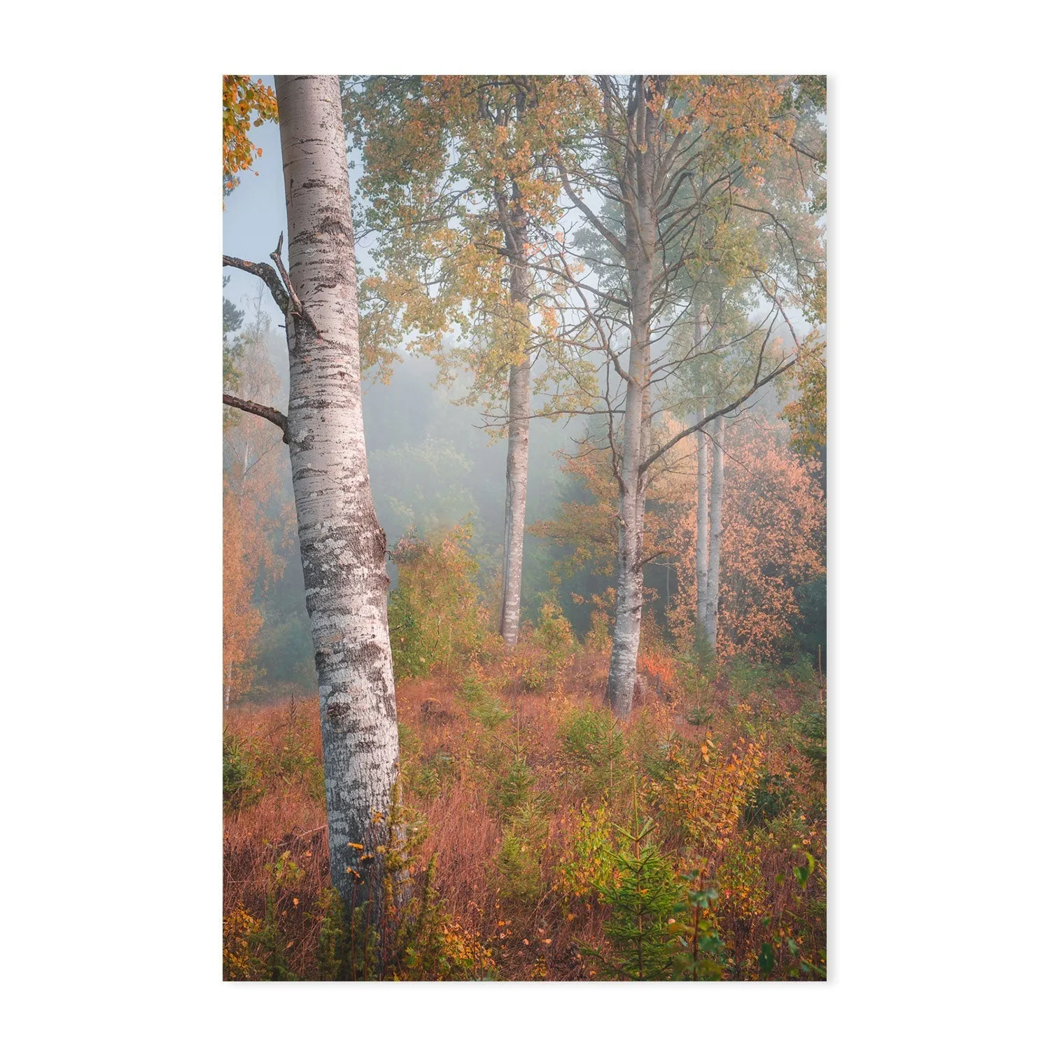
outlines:
[[[613,711],[626,716],[640,638],[649,470],[680,440],[734,411],[794,364],[791,352],[771,344],[784,307],[768,281],[761,285],[769,302],[765,338],[747,388],[652,446],[652,420],[662,411],[658,384],[700,353],[691,348],[675,354],[662,341],[692,298],[684,285],[695,281],[704,217],[716,206],[747,206],[747,180],[760,177],[768,159],[798,153],[796,93],[788,79],[755,77],[642,75],[576,83],[591,101],[592,123],[579,145],[564,148],[558,160],[565,195],[585,230],[562,253],[562,276],[576,292],[591,345],[608,365],[603,399],[620,489],[620,538],[606,691]],[[760,273],[760,260],[752,269]]]

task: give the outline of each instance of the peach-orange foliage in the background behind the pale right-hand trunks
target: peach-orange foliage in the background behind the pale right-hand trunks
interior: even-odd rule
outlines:
[[[719,588],[719,656],[756,659],[783,655],[797,589],[823,573],[824,498],[819,464],[788,446],[782,423],[741,419],[727,430]],[[583,485],[583,498],[562,503],[555,519],[532,531],[559,554],[553,583],[583,570],[611,583],[616,550],[615,483],[608,453],[585,446],[563,469]],[[667,623],[677,646],[688,649],[696,624],[696,442],[676,446],[649,487],[645,556],[674,570]],[[593,587],[593,585],[592,585]],[[653,600],[664,597],[650,588]],[[576,594],[578,601],[585,601]],[[602,611],[611,591],[593,587],[586,601]]]

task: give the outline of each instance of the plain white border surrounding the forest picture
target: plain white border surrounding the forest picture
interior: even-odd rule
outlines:
[[[8,22],[4,882],[22,1042],[1031,1045],[1047,690],[1026,665],[1047,581],[1030,18],[264,2]],[[826,986],[218,980],[218,77],[508,57],[830,75]]]

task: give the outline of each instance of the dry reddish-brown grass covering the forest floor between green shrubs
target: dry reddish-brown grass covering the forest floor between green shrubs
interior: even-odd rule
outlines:
[[[465,931],[492,951],[501,978],[586,980],[592,975],[592,967],[586,954],[581,956],[580,946],[602,949],[602,924],[607,915],[593,900],[568,900],[559,885],[560,862],[571,846],[581,808],[588,801],[560,731],[573,712],[602,708],[606,657],[581,652],[549,689],[540,692],[522,688],[519,672],[522,662],[529,658],[536,658],[536,653],[519,647],[512,655],[501,655],[483,669],[472,669],[499,694],[510,715],[495,729],[485,729],[472,717],[461,696],[462,679],[470,668],[399,684],[398,717],[407,743],[402,756],[404,802],[419,811],[427,828],[416,869],[425,868],[437,855],[438,888],[446,909]],[[647,666],[663,665],[651,658]],[[750,717],[747,709],[741,712],[739,708],[740,697],[732,695],[724,682],[708,699],[713,710],[710,726],[690,724],[686,712],[694,701],[687,697],[672,695],[654,701],[654,696],[655,692],[648,694],[647,704],[635,712],[625,733],[627,762],[636,774],[644,771],[656,744],[672,738],[687,748],[698,748],[710,732],[728,753],[740,738],[741,720]],[[776,724],[777,719],[797,712],[799,702],[799,695],[791,689],[769,691],[762,700],[763,717]],[[288,705],[234,710],[227,716],[226,728],[260,752],[285,748],[291,736],[293,748],[300,747],[320,761],[316,702],[300,702],[291,717]],[[763,769],[790,775],[791,766],[801,769],[802,777],[812,774],[806,759],[790,749],[766,750]],[[533,777],[531,795],[542,800],[546,817],[546,840],[540,852],[543,891],[528,904],[507,899],[497,869],[506,814],[501,815],[494,805],[494,782],[512,754],[525,756]],[[421,794],[416,790],[419,777],[413,773],[427,763],[435,766],[439,757],[446,771],[440,790],[430,794],[432,786],[430,792]],[[613,795],[622,802],[630,790],[629,780],[621,776]],[[229,813],[225,822],[226,912],[239,904],[251,915],[262,916],[269,878],[266,866],[285,850],[302,868],[294,894],[280,895],[277,906],[289,964],[307,976],[314,972],[313,950],[320,923],[314,902],[328,884],[324,819],[323,801],[316,792],[311,794],[306,778],[293,776],[268,779],[259,800]],[[732,834],[743,840],[742,830]],[[822,831],[818,834],[822,836]],[[738,844],[736,838],[723,853]],[[771,841],[759,849],[765,884],[762,914],[780,916],[791,906],[791,882],[777,882],[778,876],[790,873],[793,859],[797,862],[791,845]],[[813,841],[804,848],[819,853],[820,846]],[[666,847],[681,850],[673,836]],[[762,896],[760,888],[756,892]],[[296,899],[298,903],[294,903]],[[763,933],[757,914],[752,914],[756,907],[756,903],[749,903],[747,894],[739,905],[730,894],[719,918],[734,954],[752,960],[748,966],[741,964],[738,976],[755,975],[753,959],[763,936],[769,936]]]

